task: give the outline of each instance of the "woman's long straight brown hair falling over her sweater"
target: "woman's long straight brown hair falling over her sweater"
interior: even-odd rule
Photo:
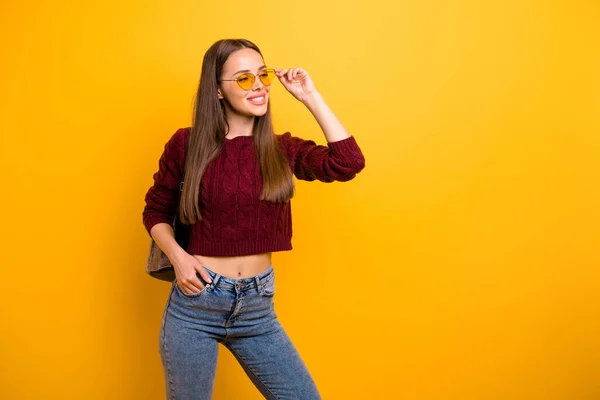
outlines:
[[[218,80],[227,58],[244,48],[253,49],[262,56],[258,47],[246,39],[219,40],[204,55],[179,203],[179,219],[184,224],[202,220],[200,182],[208,164],[221,151],[228,128],[224,105],[217,96]],[[260,200],[288,201],[294,196],[294,181],[287,159],[273,132],[270,103],[265,115],[255,117],[252,134],[263,182]]]

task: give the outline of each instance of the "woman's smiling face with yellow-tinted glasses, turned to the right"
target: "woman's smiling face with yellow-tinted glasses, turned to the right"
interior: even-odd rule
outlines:
[[[265,86],[258,75],[266,68],[261,55],[252,49],[241,49],[232,53],[225,64],[219,84],[218,96],[225,104],[226,112],[248,117],[260,117],[267,112],[269,103],[269,86]],[[242,89],[236,79],[244,73],[251,72],[257,76],[250,90]]]

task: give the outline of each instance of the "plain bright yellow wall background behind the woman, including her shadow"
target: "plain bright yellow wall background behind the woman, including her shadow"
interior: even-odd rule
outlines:
[[[143,197],[204,52],[245,37],[366,156],[297,183],[273,258],[323,398],[600,398],[599,3],[218,3],[2,2],[0,397],[164,398]],[[259,398],[221,347],[215,399]]]

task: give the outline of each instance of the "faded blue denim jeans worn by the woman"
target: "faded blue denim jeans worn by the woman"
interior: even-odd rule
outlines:
[[[315,383],[283,327],[273,298],[273,265],[233,279],[204,267],[212,278],[185,294],[173,281],[160,328],[159,353],[167,399],[211,399],[218,343],[238,360],[266,399],[320,399]]]

